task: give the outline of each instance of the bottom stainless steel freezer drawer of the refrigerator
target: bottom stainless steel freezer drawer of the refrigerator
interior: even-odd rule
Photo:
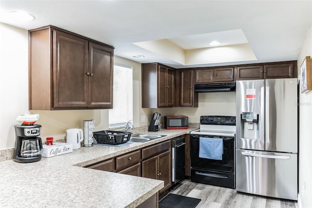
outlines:
[[[297,154],[236,149],[236,190],[297,200]]]

